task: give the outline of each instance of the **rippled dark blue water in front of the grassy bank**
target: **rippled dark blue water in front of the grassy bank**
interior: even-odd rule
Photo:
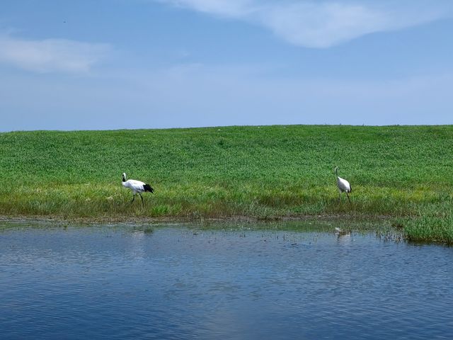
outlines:
[[[1,339],[452,339],[453,248],[374,234],[15,225]]]

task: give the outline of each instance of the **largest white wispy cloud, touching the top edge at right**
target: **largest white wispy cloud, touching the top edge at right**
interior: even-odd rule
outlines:
[[[451,1],[157,0],[264,26],[294,45],[331,47],[377,32],[428,23],[453,14]]]

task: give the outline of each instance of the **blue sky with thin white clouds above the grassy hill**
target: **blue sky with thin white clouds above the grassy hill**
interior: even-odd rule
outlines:
[[[1,7],[1,131],[453,123],[453,1]]]

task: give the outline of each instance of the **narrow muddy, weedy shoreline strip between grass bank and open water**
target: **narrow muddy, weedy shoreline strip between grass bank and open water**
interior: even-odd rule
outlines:
[[[207,218],[207,219],[164,219],[164,218],[137,218],[124,220],[64,220],[61,218],[37,218],[37,217],[5,217],[0,216],[0,230],[9,227],[51,227],[56,229],[65,229],[67,227],[132,227],[154,229],[160,227],[190,227],[195,230],[226,230],[226,231],[244,231],[244,230],[273,230],[289,232],[326,232],[338,234],[350,234],[352,232],[372,233],[377,237],[397,242],[405,239],[403,229],[391,225],[384,217],[367,218],[361,217],[350,218],[345,220],[345,216],[305,216],[303,218],[281,218],[274,220],[257,220],[251,217],[234,217],[234,218]],[[340,230],[340,232],[339,232]]]

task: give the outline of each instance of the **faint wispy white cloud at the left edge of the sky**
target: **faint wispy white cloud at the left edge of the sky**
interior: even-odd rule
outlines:
[[[65,39],[23,40],[0,35],[0,63],[33,72],[86,73],[109,51],[106,44]]]

